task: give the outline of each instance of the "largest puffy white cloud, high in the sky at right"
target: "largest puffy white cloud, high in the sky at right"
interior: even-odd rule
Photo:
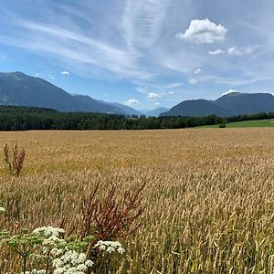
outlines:
[[[192,20],[184,33],[177,33],[176,38],[195,44],[212,44],[216,41],[224,41],[227,28],[216,25],[209,19]]]

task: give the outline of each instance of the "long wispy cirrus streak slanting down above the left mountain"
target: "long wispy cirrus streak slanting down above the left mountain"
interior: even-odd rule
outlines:
[[[103,68],[118,78],[148,79],[152,77],[149,72],[140,71],[137,64],[138,56],[127,49],[113,47],[108,43],[58,26],[23,20],[19,21],[19,24],[35,37],[33,40],[26,39],[26,47],[67,58],[71,62],[77,61],[82,65]],[[46,45],[42,43],[44,40],[47,40]]]

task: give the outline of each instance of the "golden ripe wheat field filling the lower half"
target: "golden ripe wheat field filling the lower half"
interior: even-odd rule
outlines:
[[[16,178],[1,162],[1,229],[65,220],[77,233],[96,184],[103,199],[145,182],[141,227],[111,273],[274,273],[273,130],[0,132],[15,142],[26,164]],[[1,273],[17,264],[0,250]]]

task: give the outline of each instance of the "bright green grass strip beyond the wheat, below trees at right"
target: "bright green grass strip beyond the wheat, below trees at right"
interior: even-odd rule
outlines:
[[[227,128],[270,128],[274,127],[274,120],[253,120],[228,122]],[[218,128],[218,125],[208,125],[202,128]]]

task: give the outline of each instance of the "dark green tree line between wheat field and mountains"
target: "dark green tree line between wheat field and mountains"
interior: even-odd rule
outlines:
[[[43,108],[0,106],[0,131],[181,129],[232,121],[274,118],[274,112],[233,117],[125,117],[115,114],[59,112]]]

